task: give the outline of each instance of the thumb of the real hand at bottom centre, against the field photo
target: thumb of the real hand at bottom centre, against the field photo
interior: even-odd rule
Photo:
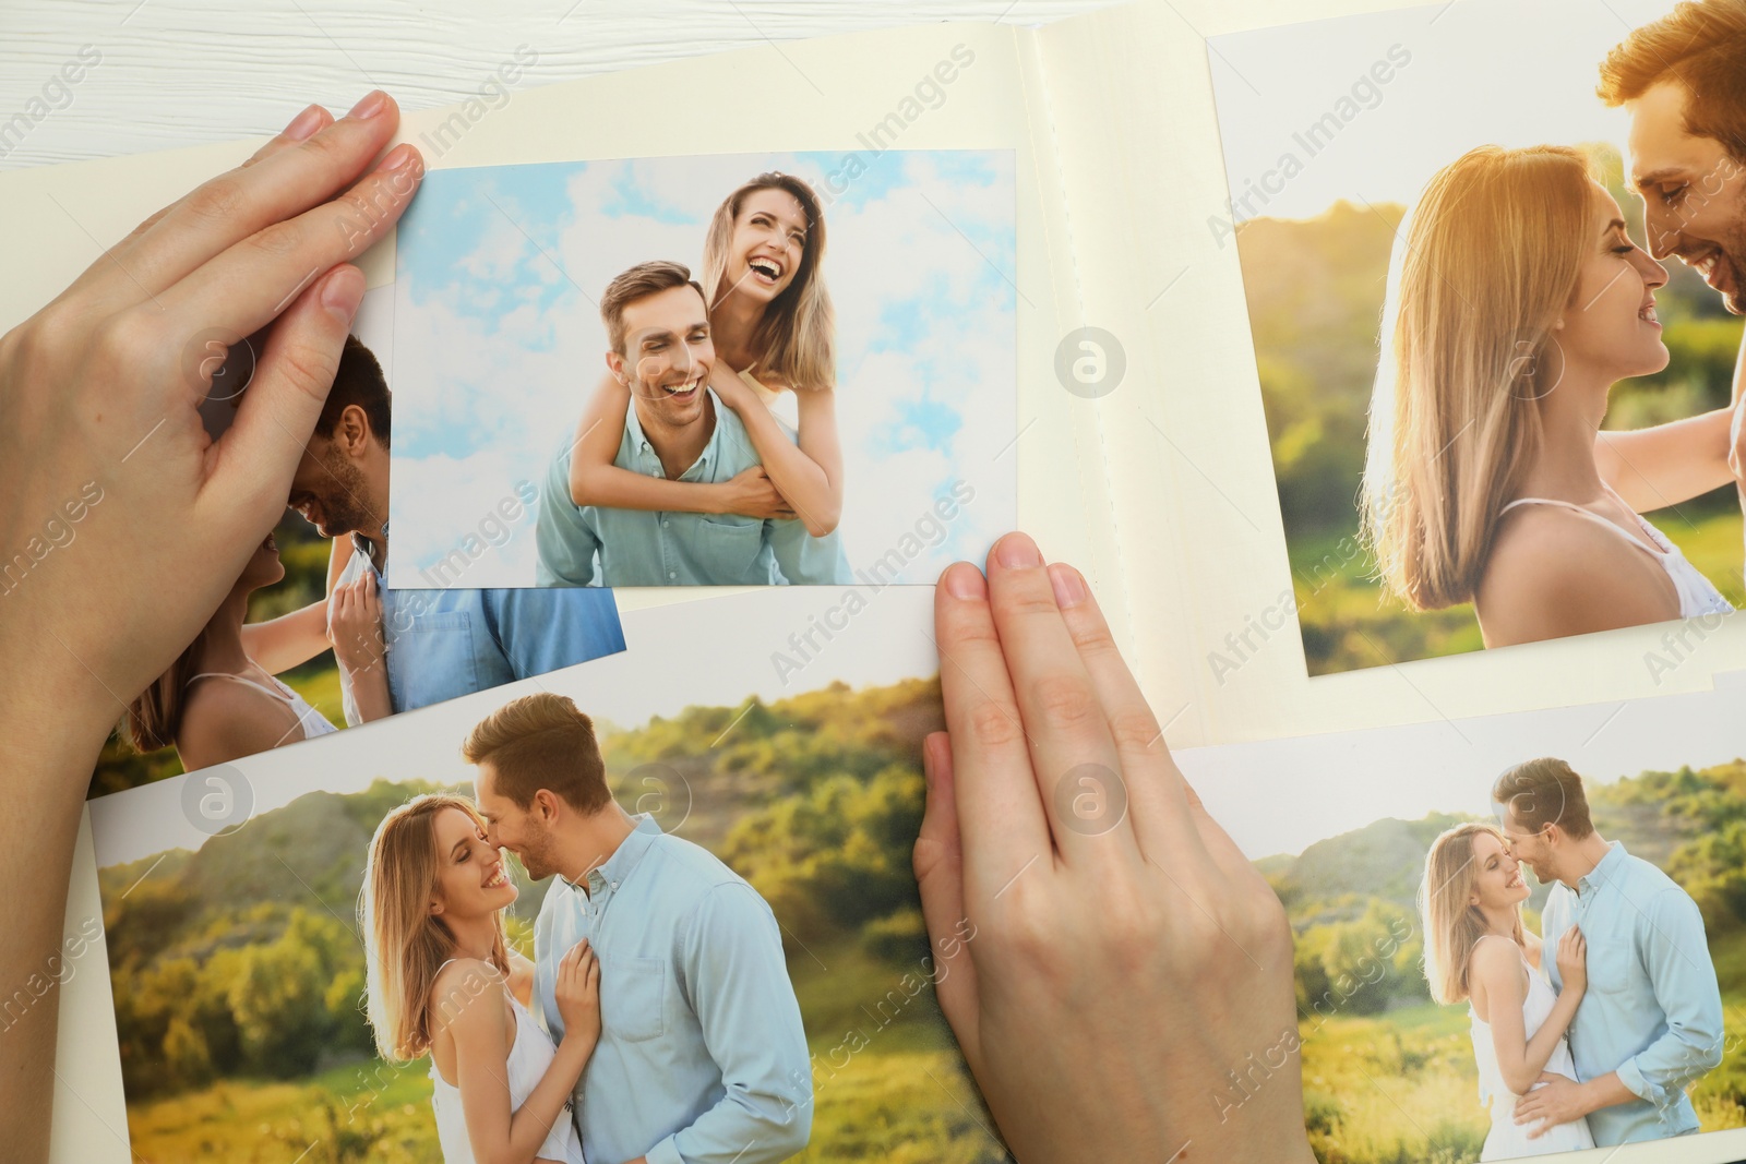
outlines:
[[[964,852],[952,784],[952,742],[945,731],[922,740],[922,770],[927,773],[927,805],[915,838],[913,866],[922,888],[922,920],[934,951],[934,993],[974,1070],[981,1047],[976,1035],[976,967],[964,942]]]

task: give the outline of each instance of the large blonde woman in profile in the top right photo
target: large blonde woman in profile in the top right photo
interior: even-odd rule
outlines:
[[[1615,382],[1667,366],[1667,272],[1585,155],[1472,150],[1399,262],[1364,482],[1388,588],[1474,602],[1488,647],[1730,611],[1639,513],[1734,480],[1732,410],[1601,431]]]

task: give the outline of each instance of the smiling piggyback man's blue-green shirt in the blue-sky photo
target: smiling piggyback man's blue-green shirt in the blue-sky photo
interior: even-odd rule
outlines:
[[[761,464],[740,417],[709,389],[716,431],[681,482],[719,483]],[[534,543],[541,586],[817,586],[850,583],[849,558],[836,532],[814,537],[796,520],[761,520],[739,513],[677,513],[578,506],[569,496],[574,442],[552,457],[540,490]],[[665,476],[660,455],[643,433],[636,400],[625,410],[625,436],[613,459],[622,469]],[[599,567],[595,567],[599,557]]]

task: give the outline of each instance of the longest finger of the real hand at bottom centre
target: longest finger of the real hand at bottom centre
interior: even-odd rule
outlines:
[[[1137,857],[1116,742],[1030,537],[993,544],[988,593],[1055,846],[1069,864]]]

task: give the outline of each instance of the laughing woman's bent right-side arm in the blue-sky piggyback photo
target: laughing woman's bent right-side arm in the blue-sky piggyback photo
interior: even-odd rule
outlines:
[[[726,365],[709,377],[721,401],[739,414],[765,471],[800,515],[807,532],[824,537],[843,515],[843,450],[836,440],[836,391],[796,389],[800,445],[787,438],[763,400]]]

